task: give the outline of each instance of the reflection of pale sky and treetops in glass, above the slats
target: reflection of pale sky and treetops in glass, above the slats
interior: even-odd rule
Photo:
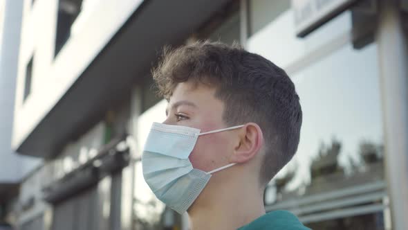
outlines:
[[[293,76],[304,122],[290,188],[324,173],[351,176],[356,168],[363,170],[361,146],[376,145],[376,154],[382,154],[376,57],[375,44],[362,51],[345,46]]]

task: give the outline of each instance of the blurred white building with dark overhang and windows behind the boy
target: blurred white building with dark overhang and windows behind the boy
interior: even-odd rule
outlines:
[[[41,159],[20,184],[19,229],[188,229],[142,177],[166,101],[164,45],[239,42],[284,68],[304,111],[267,211],[312,229],[406,229],[405,1],[24,0],[12,149]],[[268,127],[263,127],[268,128]]]

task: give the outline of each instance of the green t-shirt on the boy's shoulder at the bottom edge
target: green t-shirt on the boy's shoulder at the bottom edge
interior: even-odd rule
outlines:
[[[257,220],[239,228],[238,230],[310,230],[297,219],[295,215],[289,211],[272,211],[262,215]]]

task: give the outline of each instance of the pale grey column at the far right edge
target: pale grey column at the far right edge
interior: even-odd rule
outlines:
[[[408,50],[396,0],[380,3],[376,39],[392,229],[408,229]]]

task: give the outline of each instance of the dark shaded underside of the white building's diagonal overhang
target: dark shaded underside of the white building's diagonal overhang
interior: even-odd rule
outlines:
[[[18,146],[17,152],[52,158],[73,136],[146,78],[166,44],[180,44],[230,0],[142,3],[58,103]]]

